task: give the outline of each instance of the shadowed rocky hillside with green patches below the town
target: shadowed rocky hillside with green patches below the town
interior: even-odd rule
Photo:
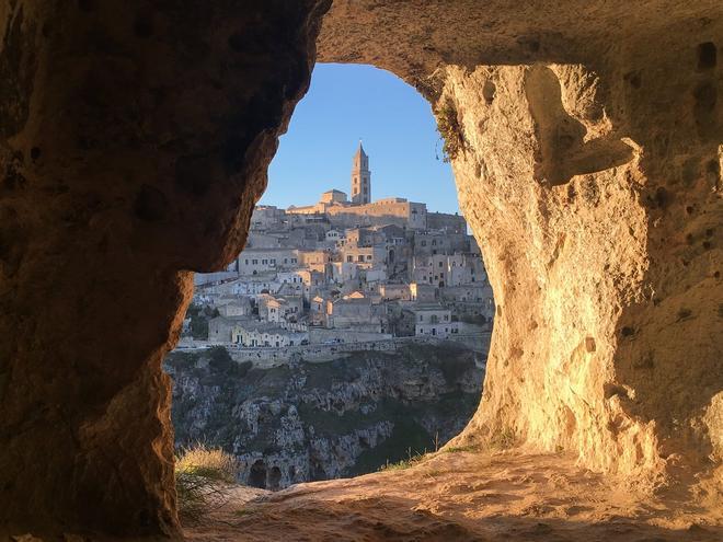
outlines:
[[[272,489],[376,471],[463,428],[479,404],[479,356],[410,345],[261,369],[222,347],[174,351],[176,446],[222,447],[239,458],[242,483]]]

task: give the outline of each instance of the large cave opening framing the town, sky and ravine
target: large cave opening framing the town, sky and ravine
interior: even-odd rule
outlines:
[[[494,302],[429,104],[318,65],[246,244],[196,275],[167,359],[176,446],[250,487],[403,469],[480,403]]]

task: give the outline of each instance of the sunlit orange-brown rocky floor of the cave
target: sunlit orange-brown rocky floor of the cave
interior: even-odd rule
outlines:
[[[560,454],[438,452],[413,468],[239,487],[193,541],[721,541],[720,493],[655,497]],[[695,504],[693,504],[695,503]]]

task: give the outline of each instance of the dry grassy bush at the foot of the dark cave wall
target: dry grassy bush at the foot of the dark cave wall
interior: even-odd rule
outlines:
[[[229,500],[239,474],[237,460],[223,450],[197,443],[175,460],[175,491],[182,522],[197,523]]]

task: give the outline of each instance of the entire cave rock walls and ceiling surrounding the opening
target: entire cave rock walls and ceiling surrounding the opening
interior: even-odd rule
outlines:
[[[160,361],[183,269],[241,247],[325,8],[0,4],[0,524],[175,532]],[[500,303],[464,438],[513,429],[631,480],[720,465],[722,15],[338,0],[325,18],[320,59],[416,85],[454,154]]]

